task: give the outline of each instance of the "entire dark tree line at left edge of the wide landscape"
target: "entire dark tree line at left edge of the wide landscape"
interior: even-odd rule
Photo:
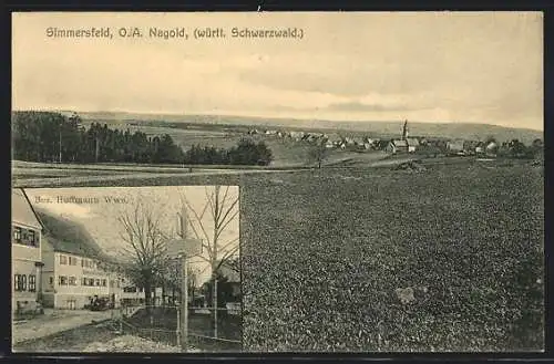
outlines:
[[[85,128],[78,115],[54,112],[12,113],[12,150],[16,159],[42,163],[268,165],[273,160],[263,142],[242,139],[229,149],[193,145],[184,152],[168,134],[148,136],[100,123]]]

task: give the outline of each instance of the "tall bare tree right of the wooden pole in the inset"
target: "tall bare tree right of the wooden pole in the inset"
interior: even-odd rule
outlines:
[[[229,223],[237,218],[238,196],[229,195],[230,186],[211,186],[206,187],[207,201],[204,207],[196,210],[192,207],[185,196],[182,196],[183,214],[181,218],[183,221],[188,221],[191,230],[196,239],[202,241],[205,256],[199,258],[209,263],[212,279],[214,280],[214,335],[217,337],[217,272],[222,264],[227,262],[238,253],[238,237],[224,241],[222,235],[226,231]],[[205,223],[205,216],[209,214],[213,229],[208,229]]]

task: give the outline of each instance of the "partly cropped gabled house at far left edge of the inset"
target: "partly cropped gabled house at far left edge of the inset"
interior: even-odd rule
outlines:
[[[34,310],[41,301],[42,222],[23,189],[11,193],[12,312]]]

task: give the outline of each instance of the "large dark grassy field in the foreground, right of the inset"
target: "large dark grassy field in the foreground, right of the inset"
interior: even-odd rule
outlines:
[[[435,163],[244,183],[245,350],[543,349],[542,168]],[[409,288],[402,303],[397,289]]]

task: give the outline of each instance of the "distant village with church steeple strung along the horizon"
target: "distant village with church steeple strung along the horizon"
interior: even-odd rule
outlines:
[[[278,129],[250,129],[248,135],[264,135],[294,142],[306,142],[325,146],[328,149],[342,149],[351,152],[383,150],[390,154],[430,152],[447,155],[483,155],[496,156],[499,149],[507,149],[511,142],[499,143],[493,138],[485,141],[445,139],[441,137],[409,136],[408,121],[404,121],[402,133],[398,138],[380,138],[372,136],[350,137],[342,136],[331,139],[324,133]]]

